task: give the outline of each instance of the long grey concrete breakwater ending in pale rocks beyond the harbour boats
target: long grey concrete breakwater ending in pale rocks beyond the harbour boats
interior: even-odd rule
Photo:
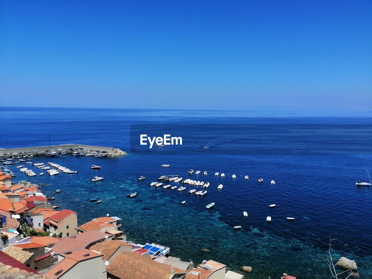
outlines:
[[[97,152],[105,152],[105,154],[101,157],[127,155],[125,151],[122,151],[119,148],[84,144],[61,144],[51,146],[0,148],[0,157],[6,157],[9,155],[46,155],[50,151],[64,151],[67,153],[79,151],[84,154],[96,154]]]

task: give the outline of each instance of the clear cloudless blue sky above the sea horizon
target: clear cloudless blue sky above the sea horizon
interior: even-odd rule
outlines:
[[[372,1],[1,1],[2,105],[372,110],[371,26]]]

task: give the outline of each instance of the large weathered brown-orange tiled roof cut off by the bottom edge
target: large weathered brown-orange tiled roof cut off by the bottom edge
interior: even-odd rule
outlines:
[[[169,279],[171,270],[172,267],[167,264],[124,252],[119,253],[107,267],[108,273],[120,279]],[[185,274],[183,270],[174,267],[173,270],[174,273]]]

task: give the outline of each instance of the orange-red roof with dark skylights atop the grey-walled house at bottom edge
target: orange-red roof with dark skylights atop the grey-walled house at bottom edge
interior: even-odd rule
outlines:
[[[87,249],[75,250],[75,251],[72,251],[71,254],[68,254],[68,255],[61,254],[61,255],[65,258],[61,260],[59,263],[57,263],[54,267],[52,267],[47,273],[45,273],[44,274],[45,278],[59,278],[62,275],[64,275],[68,270],[70,270],[71,267],[75,266],[80,261],[92,259],[95,257],[102,257],[102,255],[98,253],[94,253]],[[87,256],[84,257],[83,255],[87,255]],[[63,270],[63,271],[56,276],[55,273],[57,273],[59,270]]]

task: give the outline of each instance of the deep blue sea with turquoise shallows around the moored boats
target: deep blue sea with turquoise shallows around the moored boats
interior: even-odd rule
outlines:
[[[53,204],[76,211],[79,225],[106,214],[118,216],[128,240],[163,244],[172,256],[195,264],[213,259],[234,271],[251,266],[253,273],[244,278],[255,279],[280,278],[283,272],[301,279],[328,278],[324,258],[331,236],[336,238],[334,259],[353,259],[360,278],[372,278],[372,187],[355,186],[364,180],[366,167],[372,170],[371,113],[0,110],[0,148],[47,146],[49,134],[52,145],[102,145],[129,153],[116,158],[35,158],[78,170],[30,181],[46,184],[42,192],[55,196]],[[140,145],[139,134],[181,136],[183,144],[150,149]],[[102,169],[91,170],[93,164]],[[29,179],[15,166],[8,168],[17,175],[16,182]],[[197,178],[196,170],[201,171]],[[226,176],[215,177],[215,172]],[[199,197],[187,193],[189,186],[183,192],[149,186],[157,177],[172,174],[208,181],[208,193]],[[93,183],[96,175],[104,180]],[[146,179],[139,181],[140,176]],[[261,177],[263,183],[258,183]],[[56,189],[61,193],[54,193]],[[131,192],[138,192],[137,197],[127,198]],[[90,203],[89,198],[103,202]],[[207,210],[211,202],[215,206]],[[273,203],[276,207],[269,208]],[[242,228],[234,230],[237,225]],[[204,254],[202,248],[211,252]]]

